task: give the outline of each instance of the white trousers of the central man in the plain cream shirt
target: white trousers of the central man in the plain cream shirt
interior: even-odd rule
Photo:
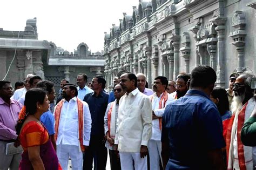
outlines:
[[[140,158],[140,153],[119,152],[121,169],[132,170],[132,160],[134,160],[135,170],[147,170],[147,157]]]

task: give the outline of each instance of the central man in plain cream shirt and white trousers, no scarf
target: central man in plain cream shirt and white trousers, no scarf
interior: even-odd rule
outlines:
[[[150,98],[137,89],[133,73],[124,73],[120,85],[126,94],[119,101],[117,132],[114,144],[118,145],[121,168],[147,169],[147,145],[152,134],[152,106]]]

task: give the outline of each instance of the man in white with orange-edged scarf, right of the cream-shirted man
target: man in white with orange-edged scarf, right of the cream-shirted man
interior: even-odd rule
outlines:
[[[168,80],[166,77],[158,76],[153,82],[154,94],[150,96],[152,104],[152,137],[149,140],[150,169],[160,169],[159,162],[163,165],[161,159],[161,128],[162,116],[165,106],[173,101],[173,98],[166,91]],[[160,161],[159,161],[160,158]]]

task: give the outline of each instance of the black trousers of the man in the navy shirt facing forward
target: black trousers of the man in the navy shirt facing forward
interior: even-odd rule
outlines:
[[[103,143],[103,135],[91,135],[88,151],[84,152],[83,170],[92,169],[92,159],[94,170],[105,170],[107,162],[107,148]]]

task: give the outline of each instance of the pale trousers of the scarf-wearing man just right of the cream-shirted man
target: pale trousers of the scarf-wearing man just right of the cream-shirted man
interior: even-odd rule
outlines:
[[[163,165],[161,157],[161,141],[159,140],[149,140],[149,155],[150,155],[150,169],[159,170],[159,158],[161,164]]]

